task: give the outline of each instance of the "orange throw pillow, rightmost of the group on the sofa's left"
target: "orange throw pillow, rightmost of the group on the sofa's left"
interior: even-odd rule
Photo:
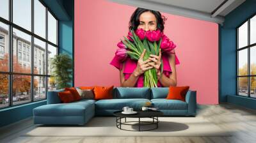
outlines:
[[[104,99],[113,99],[113,88],[114,86],[110,87],[102,87],[102,86],[95,86],[94,91],[94,99],[95,100],[104,100]]]

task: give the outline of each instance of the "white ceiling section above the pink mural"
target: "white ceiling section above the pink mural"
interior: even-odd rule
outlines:
[[[245,0],[109,0],[173,15],[223,24],[225,15]]]

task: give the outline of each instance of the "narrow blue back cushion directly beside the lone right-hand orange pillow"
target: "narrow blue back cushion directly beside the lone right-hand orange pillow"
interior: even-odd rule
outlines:
[[[169,93],[169,87],[152,87],[151,99],[166,98]]]

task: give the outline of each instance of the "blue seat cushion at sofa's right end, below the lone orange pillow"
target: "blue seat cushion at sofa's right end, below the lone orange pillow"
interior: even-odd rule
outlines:
[[[188,104],[181,100],[152,99],[154,107],[159,110],[187,110]]]

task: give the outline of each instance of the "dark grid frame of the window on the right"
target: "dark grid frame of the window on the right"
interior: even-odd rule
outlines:
[[[250,19],[252,19],[253,17],[256,17],[256,13],[254,13],[253,15],[251,15],[248,19],[246,19],[244,22],[242,22],[239,26],[236,27],[236,95],[237,96],[243,96],[241,94],[239,94],[239,77],[247,77],[247,95],[248,96],[243,96],[243,97],[247,97],[247,98],[253,98],[255,99],[256,97],[252,97],[251,96],[251,81],[250,81],[250,78],[251,77],[256,77],[256,75],[251,75],[251,63],[250,63],[250,50],[256,46],[256,43],[252,43],[250,44]],[[243,26],[243,24],[245,24],[246,22],[248,22],[248,41],[247,41],[247,45],[245,47],[241,47],[239,49],[239,27]],[[247,49],[247,56],[248,56],[248,67],[247,67],[247,75],[239,75],[239,51],[240,50],[244,50],[244,49]]]

